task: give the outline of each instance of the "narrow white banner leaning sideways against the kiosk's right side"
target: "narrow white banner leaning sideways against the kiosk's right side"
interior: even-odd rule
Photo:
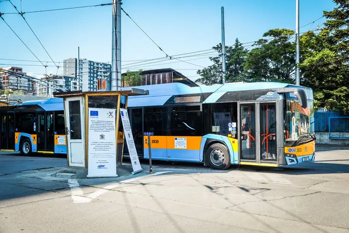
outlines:
[[[129,153],[130,153],[130,159],[131,159],[131,164],[132,164],[132,169],[133,169],[132,174],[136,174],[136,173],[142,172],[143,169],[142,169],[141,163],[138,159],[135,141],[133,140],[129,115],[127,114],[127,109],[120,108],[120,115],[121,115],[122,124],[124,126],[127,147],[129,149]]]

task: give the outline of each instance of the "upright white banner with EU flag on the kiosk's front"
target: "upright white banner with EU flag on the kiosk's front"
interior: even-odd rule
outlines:
[[[115,109],[88,109],[88,175],[117,177]]]

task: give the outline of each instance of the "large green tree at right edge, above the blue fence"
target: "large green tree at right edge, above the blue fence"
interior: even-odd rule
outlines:
[[[334,2],[320,33],[301,37],[301,84],[313,88],[316,107],[349,112],[349,0]]]

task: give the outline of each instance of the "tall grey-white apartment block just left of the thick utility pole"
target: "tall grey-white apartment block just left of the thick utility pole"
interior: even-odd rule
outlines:
[[[65,88],[70,91],[97,91],[98,79],[107,79],[111,70],[112,65],[103,62],[80,59],[78,67],[76,58],[66,59],[63,61]]]

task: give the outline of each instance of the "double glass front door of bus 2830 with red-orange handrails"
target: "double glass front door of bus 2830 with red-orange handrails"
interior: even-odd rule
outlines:
[[[278,166],[277,102],[240,103],[240,163]]]

